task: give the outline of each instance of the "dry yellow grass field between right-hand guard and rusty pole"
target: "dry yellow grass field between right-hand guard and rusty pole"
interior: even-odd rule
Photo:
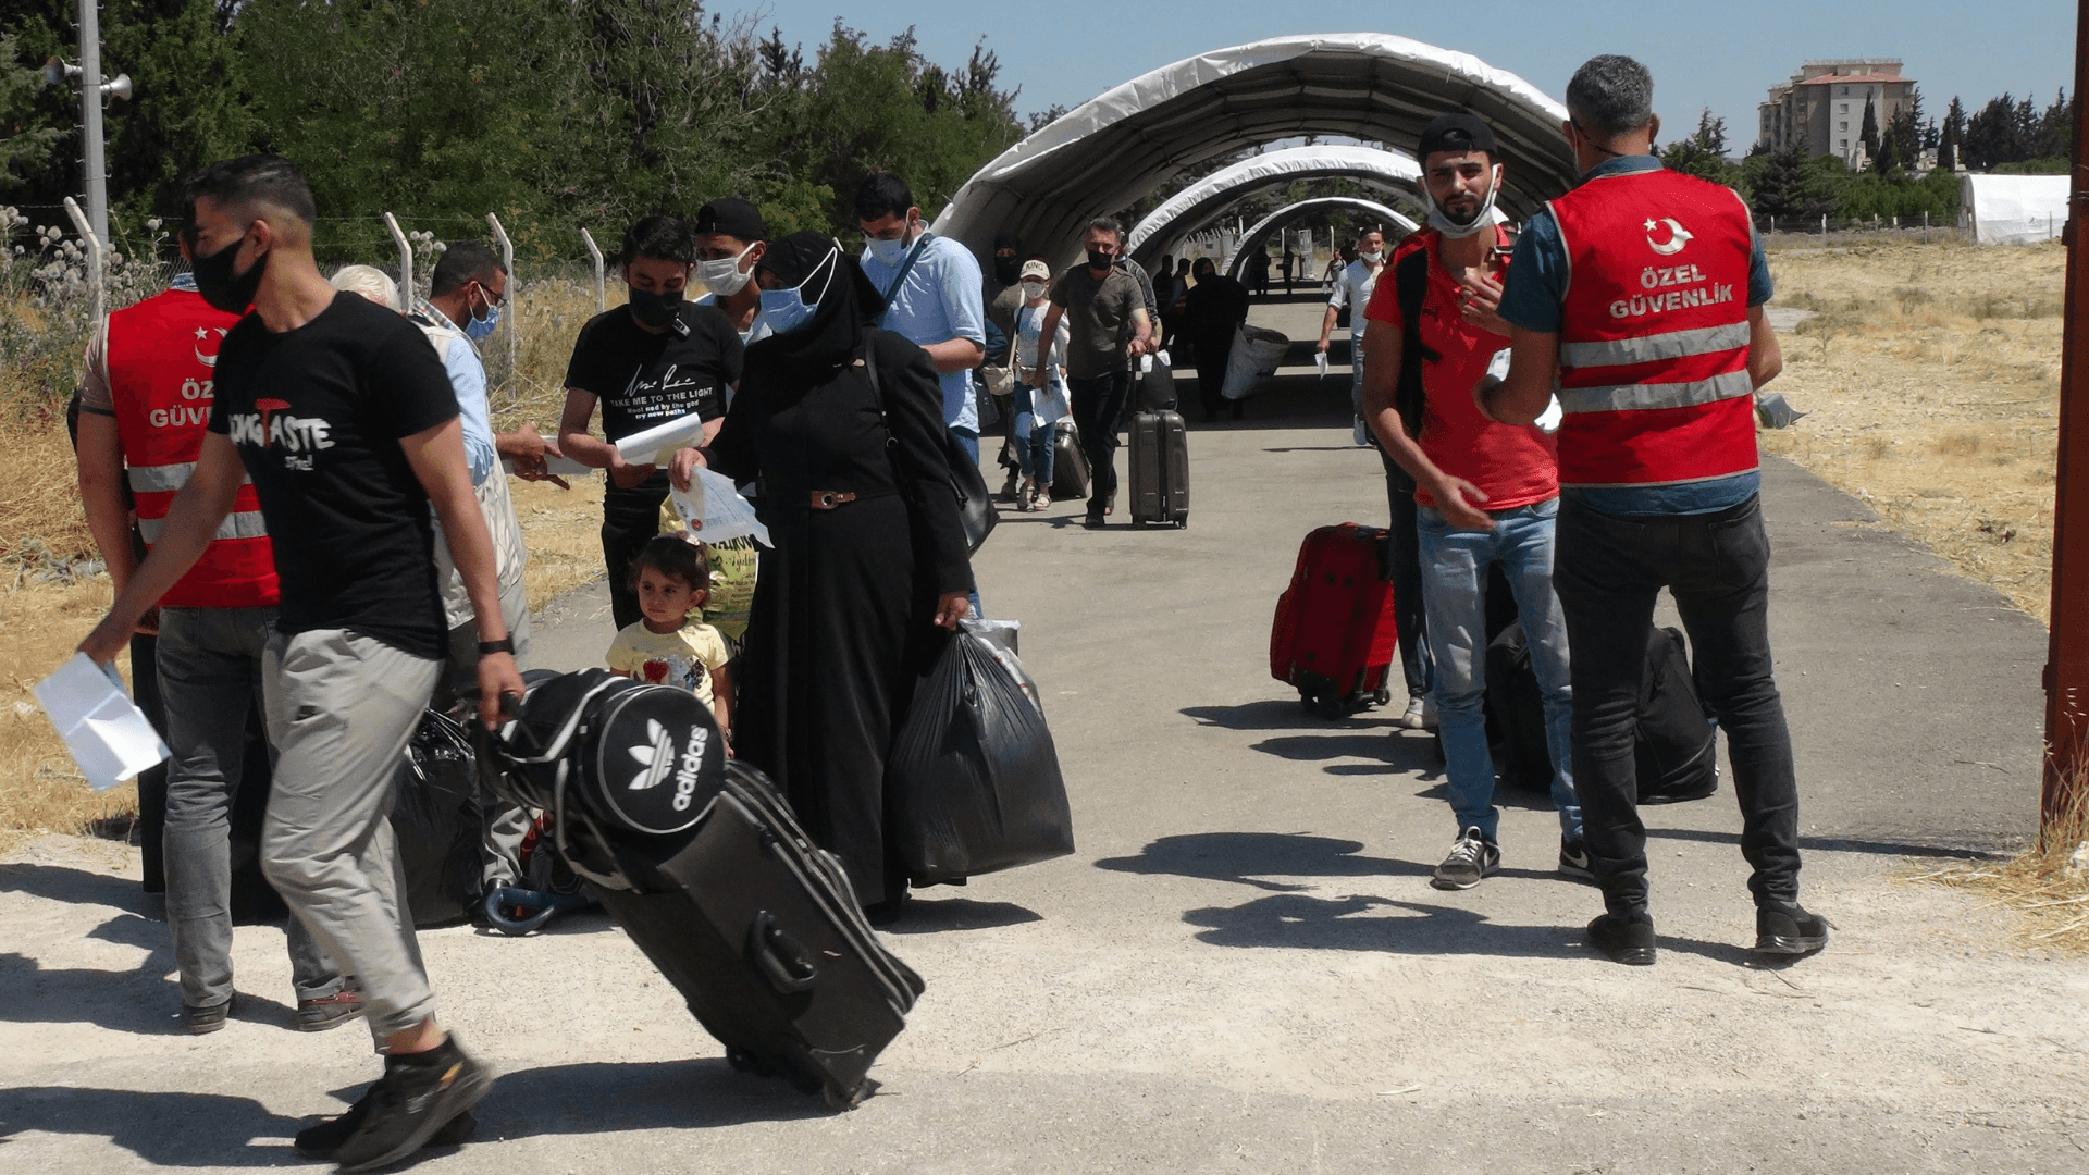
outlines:
[[[1771,387],[1811,412],[1763,433],[1959,573],[2047,619],[2060,410],[2060,245],[1774,249]]]

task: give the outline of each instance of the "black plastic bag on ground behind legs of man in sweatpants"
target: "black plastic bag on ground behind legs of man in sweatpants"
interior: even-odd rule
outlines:
[[[393,778],[391,815],[405,868],[399,901],[420,930],[455,926],[478,905],[476,774],[470,736],[435,711],[422,713]]]

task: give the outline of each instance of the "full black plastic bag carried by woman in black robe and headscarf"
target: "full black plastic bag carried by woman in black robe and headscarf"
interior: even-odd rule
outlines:
[[[1074,851],[1044,715],[971,633],[948,638],[886,761],[888,843],[915,884]]]

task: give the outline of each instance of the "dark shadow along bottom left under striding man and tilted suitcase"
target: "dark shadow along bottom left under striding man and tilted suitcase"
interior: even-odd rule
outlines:
[[[577,1098],[579,1091],[585,1098]],[[341,1091],[341,1110],[357,1093],[361,1087]],[[480,1139],[829,1116],[819,1098],[783,1081],[733,1073],[725,1058],[526,1068],[497,1079],[474,1112]],[[313,1123],[318,1119],[272,1114],[253,1098],[224,1093],[0,1089],[0,1144],[27,1131],[107,1137],[155,1167],[297,1162],[288,1139]],[[416,1160],[447,1150],[424,1150]]]

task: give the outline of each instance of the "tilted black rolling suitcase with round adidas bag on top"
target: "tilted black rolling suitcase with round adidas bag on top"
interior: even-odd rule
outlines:
[[[725,761],[710,709],[602,669],[537,677],[516,709],[493,740],[508,799],[551,811],[574,874],[727,1060],[840,1110],[869,1096],[921,976],[769,780]]]

